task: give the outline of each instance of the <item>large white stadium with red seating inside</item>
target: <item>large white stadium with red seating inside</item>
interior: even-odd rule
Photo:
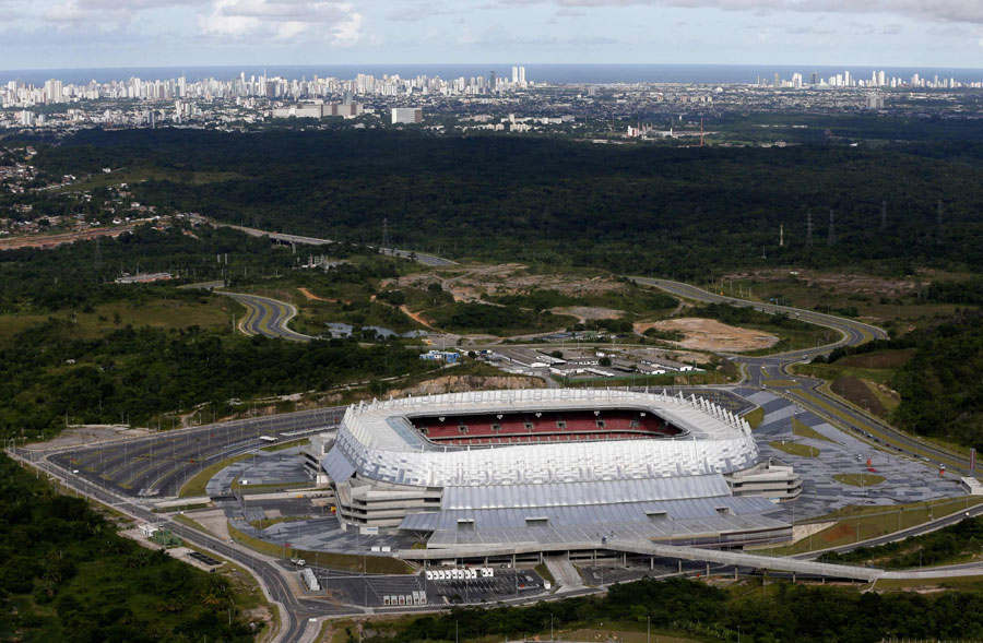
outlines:
[[[784,541],[769,517],[790,467],[701,397],[626,390],[478,391],[351,406],[309,457],[346,528],[427,549],[576,549],[608,538],[703,547]]]

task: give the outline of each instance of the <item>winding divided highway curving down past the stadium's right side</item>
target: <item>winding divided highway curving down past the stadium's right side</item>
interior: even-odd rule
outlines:
[[[821,390],[822,380],[798,376],[789,371],[789,367],[796,362],[806,362],[817,355],[826,355],[839,346],[856,346],[871,340],[886,340],[884,330],[852,319],[844,319],[831,314],[824,314],[801,308],[777,306],[774,303],[761,303],[718,295],[679,282],[658,279],[649,277],[631,277],[636,283],[644,286],[654,286],[678,297],[704,301],[711,303],[730,303],[733,306],[750,306],[762,312],[774,314],[787,314],[819,326],[831,329],[839,333],[840,338],[830,344],[790,350],[765,357],[748,357],[744,355],[729,355],[727,358],[742,365],[746,373],[746,382],[754,388],[768,389],[769,391],[787,397],[804,408],[808,408],[818,417],[822,417],[833,425],[839,425],[862,433],[868,440],[879,442],[895,451],[908,453],[922,461],[928,459],[935,464],[945,463],[949,471],[969,474],[967,459],[941,449],[935,444],[924,442],[910,433],[900,431],[887,422],[884,422],[843,401],[828,395]],[[771,369],[771,372],[769,372]],[[769,381],[777,378],[784,379],[787,385],[772,386]]]

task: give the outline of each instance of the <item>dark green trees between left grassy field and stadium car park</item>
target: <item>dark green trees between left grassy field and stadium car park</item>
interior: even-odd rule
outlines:
[[[68,325],[52,319],[0,347],[0,436],[50,436],[64,424],[145,426],[202,404],[208,408],[199,421],[211,421],[228,413],[234,398],[323,391],[433,368],[418,349],[394,343],[300,344],[193,326],[127,326],[85,340],[67,336]]]

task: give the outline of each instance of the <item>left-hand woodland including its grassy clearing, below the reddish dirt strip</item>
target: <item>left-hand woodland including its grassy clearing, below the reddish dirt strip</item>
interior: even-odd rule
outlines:
[[[371,253],[347,245],[323,252],[335,260]],[[237,286],[246,275],[275,274],[282,276],[272,277],[274,283],[283,283],[296,278],[296,261],[289,249],[269,240],[211,226],[142,226],[98,245],[0,252],[0,434],[34,439],[66,424],[145,426],[162,415],[170,416],[163,418],[169,426],[174,414],[196,407],[196,421],[211,420],[229,413],[235,398],[323,391],[427,369],[418,350],[374,337],[367,340],[376,345],[363,346],[355,340],[301,345],[234,335],[238,307],[232,299],[170,285],[218,278]],[[180,270],[183,276],[112,283],[115,274],[138,265],[142,272]],[[398,276],[399,267],[395,260],[372,257],[304,274],[309,285],[371,291],[379,278]],[[182,318],[186,311],[212,323]],[[141,321],[127,323],[120,313]]]

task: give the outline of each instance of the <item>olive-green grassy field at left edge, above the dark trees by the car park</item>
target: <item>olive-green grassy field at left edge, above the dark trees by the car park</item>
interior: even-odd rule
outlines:
[[[226,297],[211,297],[206,303],[155,299],[140,306],[115,301],[94,307],[93,312],[61,311],[54,314],[0,314],[0,341],[7,341],[21,331],[44,323],[48,318],[74,321],[72,334],[82,338],[98,337],[118,328],[154,326],[186,329],[189,326],[216,326],[230,323],[233,313],[240,317],[238,303]],[[117,315],[119,323],[117,323]]]

